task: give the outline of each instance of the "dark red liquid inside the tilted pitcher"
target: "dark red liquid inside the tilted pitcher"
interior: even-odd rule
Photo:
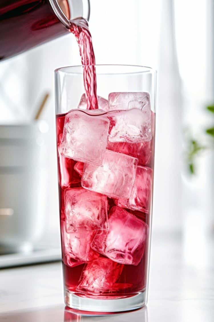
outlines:
[[[48,0],[0,0],[0,60],[67,32]]]

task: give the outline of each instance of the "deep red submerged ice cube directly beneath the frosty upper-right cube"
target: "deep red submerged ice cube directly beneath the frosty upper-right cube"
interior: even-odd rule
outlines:
[[[138,143],[108,142],[107,149],[133,156],[134,158],[138,159],[138,164],[146,166],[150,164],[152,150],[151,142],[152,141],[141,141]]]

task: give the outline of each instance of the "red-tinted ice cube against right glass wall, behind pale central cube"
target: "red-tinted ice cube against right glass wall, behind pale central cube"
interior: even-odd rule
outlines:
[[[137,166],[135,181],[130,198],[115,199],[115,203],[123,208],[149,213],[152,190],[152,175],[152,169],[146,166]]]

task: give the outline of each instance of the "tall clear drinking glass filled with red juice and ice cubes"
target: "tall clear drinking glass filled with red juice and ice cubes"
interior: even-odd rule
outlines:
[[[64,300],[116,312],[147,303],[156,71],[95,68],[94,109],[84,66],[55,71]]]

